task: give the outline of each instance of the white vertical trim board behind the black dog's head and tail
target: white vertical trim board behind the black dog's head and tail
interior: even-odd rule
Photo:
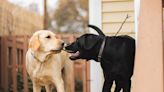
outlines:
[[[102,28],[102,0],[89,0],[89,24],[96,25]],[[90,33],[97,34],[93,29]],[[90,61],[90,92],[102,92],[103,73],[100,63],[93,60]]]

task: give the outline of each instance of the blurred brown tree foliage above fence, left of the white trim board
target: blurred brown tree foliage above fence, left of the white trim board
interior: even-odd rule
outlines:
[[[88,0],[59,0],[49,12],[49,29],[62,33],[85,33],[88,24]]]

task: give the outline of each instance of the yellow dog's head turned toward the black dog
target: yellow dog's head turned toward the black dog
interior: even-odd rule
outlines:
[[[64,41],[48,30],[35,32],[29,41],[29,48],[34,52],[58,53],[63,49],[63,46]]]

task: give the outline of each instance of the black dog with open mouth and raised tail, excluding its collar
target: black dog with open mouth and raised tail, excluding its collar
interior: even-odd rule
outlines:
[[[75,42],[66,47],[69,53],[76,53],[70,59],[86,59],[98,61],[98,53],[105,35],[99,28],[101,35],[84,34]],[[78,53],[77,53],[78,52]],[[116,83],[115,92],[130,92],[131,77],[135,58],[135,40],[127,35],[106,37],[106,44],[101,58],[101,67],[104,73],[104,86],[102,92],[111,92],[113,81]]]

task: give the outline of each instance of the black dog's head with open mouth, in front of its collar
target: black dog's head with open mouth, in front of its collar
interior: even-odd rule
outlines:
[[[70,59],[94,59],[97,58],[101,37],[93,34],[85,34],[77,38],[75,42],[65,47],[71,53]]]

